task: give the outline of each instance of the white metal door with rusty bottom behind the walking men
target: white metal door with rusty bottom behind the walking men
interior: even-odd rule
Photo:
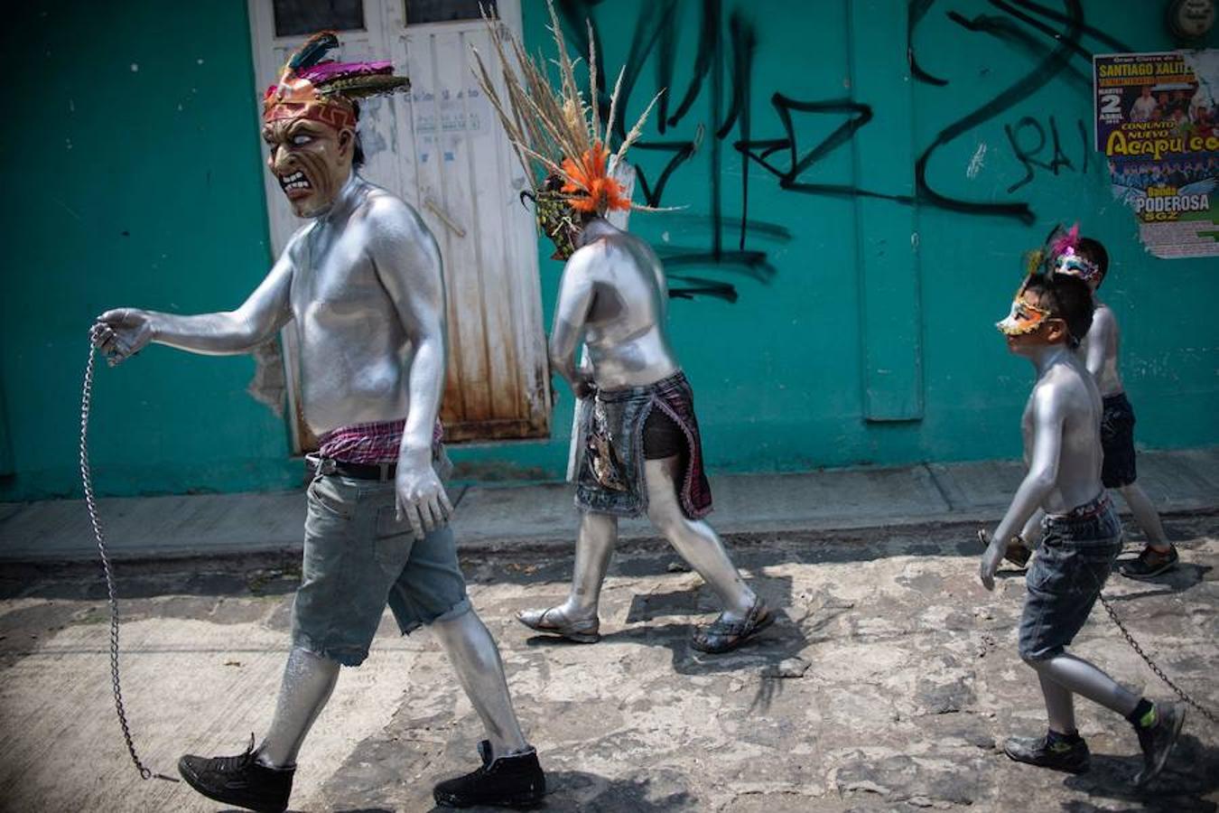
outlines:
[[[518,199],[527,179],[482,96],[471,45],[490,66],[490,33],[480,18],[410,24],[411,0],[363,0],[362,29],[339,32],[341,59],[390,59],[411,78],[410,96],[361,105],[366,178],[418,210],[440,244],[449,300],[449,371],[441,417],[452,441],[544,438],[550,385],[538,243]],[[499,0],[505,24],[521,30],[519,0]],[[251,0],[254,63],[260,85],[306,34],[277,37],[273,0]],[[261,108],[260,108],[261,115]],[[272,246],[278,254],[300,225],[279,185],[265,178]],[[290,408],[297,413],[295,343],[284,333]],[[296,422],[299,423],[299,422]],[[310,447],[294,428],[297,451]]]

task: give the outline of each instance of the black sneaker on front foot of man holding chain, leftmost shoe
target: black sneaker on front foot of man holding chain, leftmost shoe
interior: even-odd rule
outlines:
[[[207,798],[258,813],[283,813],[288,809],[296,768],[268,768],[258,763],[257,756],[251,735],[245,753],[235,757],[188,753],[178,759],[178,773]]]

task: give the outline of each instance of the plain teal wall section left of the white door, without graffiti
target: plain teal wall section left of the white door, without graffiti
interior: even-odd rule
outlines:
[[[27,2],[7,11],[0,391],[15,475],[0,500],[79,492],[80,378],[94,316],[223,310],[266,274],[241,0]],[[98,372],[99,492],[300,480],[247,357],[150,347]]]

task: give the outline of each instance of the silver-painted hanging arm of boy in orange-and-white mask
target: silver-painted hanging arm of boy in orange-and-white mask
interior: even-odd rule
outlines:
[[[1058,479],[1058,461],[1062,457],[1063,405],[1051,389],[1037,390],[1032,396],[1032,453],[1029,470],[1012,497],[1012,505],[995,528],[990,545],[983,555],[981,577],[987,590],[995,589],[995,572],[1007,551],[1007,540],[1024,528],[1042,501],[1053,490]]]

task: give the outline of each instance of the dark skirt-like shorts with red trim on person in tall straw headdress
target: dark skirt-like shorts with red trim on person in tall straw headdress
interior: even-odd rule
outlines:
[[[600,390],[579,408],[575,505],[580,509],[616,517],[645,513],[644,461],[680,456],[683,513],[700,519],[711,512],[694,391],[683,373],[645,386]]]

